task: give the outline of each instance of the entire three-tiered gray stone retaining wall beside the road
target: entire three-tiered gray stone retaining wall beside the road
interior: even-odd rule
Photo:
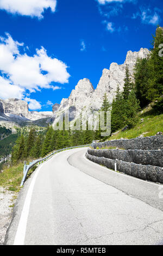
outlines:
[[[163,184],[163,136],[151,136],[134,139],[117,139],[101,143],[92,143],[87,159],[102,164],[109,169]],[[99,147],[99,149],[96,149]],[[101,149],[116,147],[119,149]]]

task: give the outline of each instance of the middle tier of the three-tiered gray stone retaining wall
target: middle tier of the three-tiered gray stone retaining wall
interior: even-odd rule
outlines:
[[[163,167],[163,150],[88,149],[92,156]]]

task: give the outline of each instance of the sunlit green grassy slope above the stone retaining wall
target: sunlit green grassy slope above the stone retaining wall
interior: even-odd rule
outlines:
[[[137,123],[133,129],[127,131],[120,131],[115,135],[112,135],[110,139],[120,139],[120,138],[136,138],[140,135],[144,137],[147,136],[154,136],[157,132],[163,132],[163,114],[156,115],[153,109],[148,106],[147,108],[143,109],[139,114],[140,121]],[[141,119],[144,119],[141,123]]]

